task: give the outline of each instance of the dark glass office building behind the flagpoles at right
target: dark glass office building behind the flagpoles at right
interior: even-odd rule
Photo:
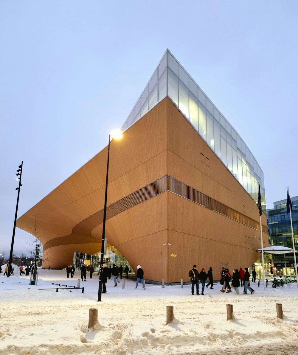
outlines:
[[[298,196],[292,197],[292,224],[295,249],[298,250]],[[290,214],[287,214],[287,199],[273,203],[274,208],[266,212],[271,245],[282,245],[293,249]],[[296,254],[296,258],[298,255]],[[274,273],[294,274],[294,255],[272,254]]]

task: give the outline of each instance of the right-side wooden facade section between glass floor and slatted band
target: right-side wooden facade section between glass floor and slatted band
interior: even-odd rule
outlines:
[[[256,203],[170,100],[168,112],[168,174],[259,221]]]

